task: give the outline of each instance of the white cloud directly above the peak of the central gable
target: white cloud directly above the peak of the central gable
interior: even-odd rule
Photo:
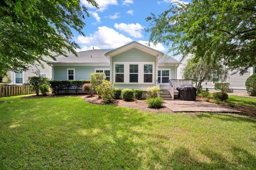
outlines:
[[[141,38],[141,30],[143,27],[139,23],[115,23],[115,28],[121,30],[135,38]]]

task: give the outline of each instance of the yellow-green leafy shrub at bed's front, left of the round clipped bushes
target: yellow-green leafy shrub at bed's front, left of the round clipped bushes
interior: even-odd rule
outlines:
[[[110,103],[114,99],[115,87],[111,85],[111,82],[106,80],[100,85],[100,96],[105,103]]]

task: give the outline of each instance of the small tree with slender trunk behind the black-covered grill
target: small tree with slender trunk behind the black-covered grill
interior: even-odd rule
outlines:
[[[196,82],[196,93],[198,93],[203,82],[212,80],[213,73],[217,74],[221,81],[227,78],[228,70],[220,62],[192,58],[188,60],[183,70],[183,77],[193,79]]]

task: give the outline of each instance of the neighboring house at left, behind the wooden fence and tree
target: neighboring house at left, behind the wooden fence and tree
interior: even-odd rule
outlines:
[[[22,85],[28,82],[28,77],[36,76],[35,74],[36,71],[39,71],[43,77],[47,77],[49,79],[52,78],[52,67],[46,63],[44,64],[44,68],[42,68],[41,66],[30,66],[27,71],[23,71],[23,72],[9,71],[7,75],[11,79],[10,84]],[[6,79],[7,79],[6,77],[3,77],[3,82],[5,82]]]

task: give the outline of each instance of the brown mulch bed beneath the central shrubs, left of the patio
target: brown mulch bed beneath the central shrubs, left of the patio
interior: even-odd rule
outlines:
[[[85,100],[89,103],[94,103],[94,104],[106,104],[101,99],[98,99],[98,95],[85,96]],[[172,112],[172,110],[170,110],[166,107],[163,107],[160,109],[148,108],[145,99],[133,100],[133,101],[129,101],[129,102],[126,102],[122,99],[117,99],[117,100],[114,100],[113,103],[109,103],[109,104],[116,105],[116,106],[129,107],[129,108],[134,108],[134,109],[140,109],[142,111],[148,111],[148,112],[154,112],[154,113],[170,113],[170,112]]]

